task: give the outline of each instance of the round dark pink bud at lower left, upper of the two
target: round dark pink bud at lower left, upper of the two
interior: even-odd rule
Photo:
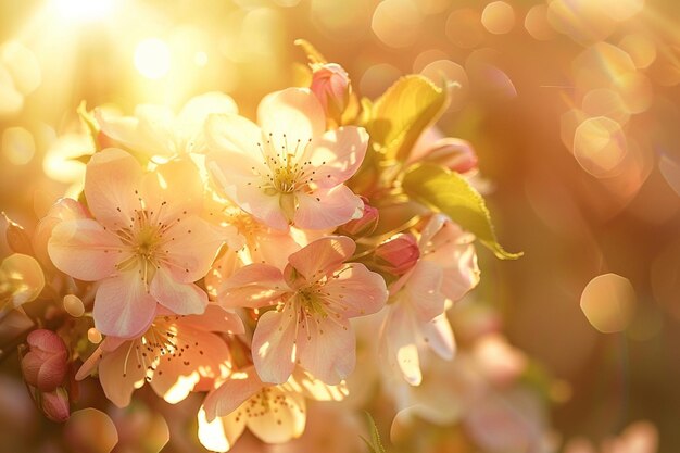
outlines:
[[[22,357],[24,379],[42,392],[56,389],[66,377],[68,353],[62,339],[51,330],[28,334],[28,352]]]

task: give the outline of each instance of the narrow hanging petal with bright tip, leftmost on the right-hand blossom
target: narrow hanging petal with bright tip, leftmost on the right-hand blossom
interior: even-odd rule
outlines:
[[[419,386],[423,381],[420,360],[414,319],[410,310],[400,306],[399,301],[390,306],[383,326],[382,338],[387,345],[386,357],[388,363],[402,373],[402,376],[412,386]]]

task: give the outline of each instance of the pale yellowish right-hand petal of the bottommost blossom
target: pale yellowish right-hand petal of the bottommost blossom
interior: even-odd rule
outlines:
[[[247,420],[252,433],[267,443],[288,442],[302,436],[306,423],[304,397],[273,387],[268,398],[273,404],[265,414]]]

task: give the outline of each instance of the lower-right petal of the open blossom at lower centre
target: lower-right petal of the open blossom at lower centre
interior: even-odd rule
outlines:
[[[354,369],[356,338],[347,319],[310,319],[299,330],[298,348],[302,367],[326,383],[340,383]]]

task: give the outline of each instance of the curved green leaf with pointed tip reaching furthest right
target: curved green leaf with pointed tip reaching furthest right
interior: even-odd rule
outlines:
[[[417,201],[446,214],[493,251],[501,260],[522,253],[506,252],[498,242],[484,199],[465,178],[435,164],[412,166],[402,181],[404,191]]]

